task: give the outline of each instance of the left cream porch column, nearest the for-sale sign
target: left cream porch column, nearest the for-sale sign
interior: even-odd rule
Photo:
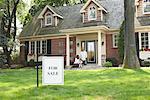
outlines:
[[[70,66],[70,43],[69,34],[66,35],[66,66]]]

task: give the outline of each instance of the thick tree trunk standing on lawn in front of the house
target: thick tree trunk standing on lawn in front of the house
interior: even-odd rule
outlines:
[[[124,68],[139,68],[139,60],[136,53],[135,44],[135,0],[124,0],[124,18],[125,18],[125,52],[124,52]]]

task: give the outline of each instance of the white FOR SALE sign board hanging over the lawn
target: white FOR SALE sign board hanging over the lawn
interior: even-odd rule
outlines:
[[[64,84],[64,57],[42,58],[42,85]]]

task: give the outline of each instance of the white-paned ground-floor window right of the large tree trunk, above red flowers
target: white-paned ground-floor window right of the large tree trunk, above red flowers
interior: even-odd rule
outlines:
[[[149,39],[148,33],[141,33],[141,48],[148,49],[149,48]]]

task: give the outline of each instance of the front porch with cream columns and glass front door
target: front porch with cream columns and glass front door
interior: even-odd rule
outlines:
[[[79,55],[81,49],[87,52],[87,63],[102,66],[106,61],[106,33],[101,30],[97,32],[86,32],[76,34],[66,34],[66,66],[70,66],[70,60],[74,59],[70,55],[70,37],[76,38],[76,55]]]

